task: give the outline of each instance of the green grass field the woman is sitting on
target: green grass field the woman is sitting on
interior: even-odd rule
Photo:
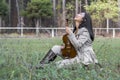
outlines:
[[[53,45],[61,45],[61,38],[0,39],[0,80],[120,80],[120,38],[97,38],[93,43],[103,70],[93,65],[84,70],[79,65],[57,69],[54,62],[46,69],[35,66]]]

